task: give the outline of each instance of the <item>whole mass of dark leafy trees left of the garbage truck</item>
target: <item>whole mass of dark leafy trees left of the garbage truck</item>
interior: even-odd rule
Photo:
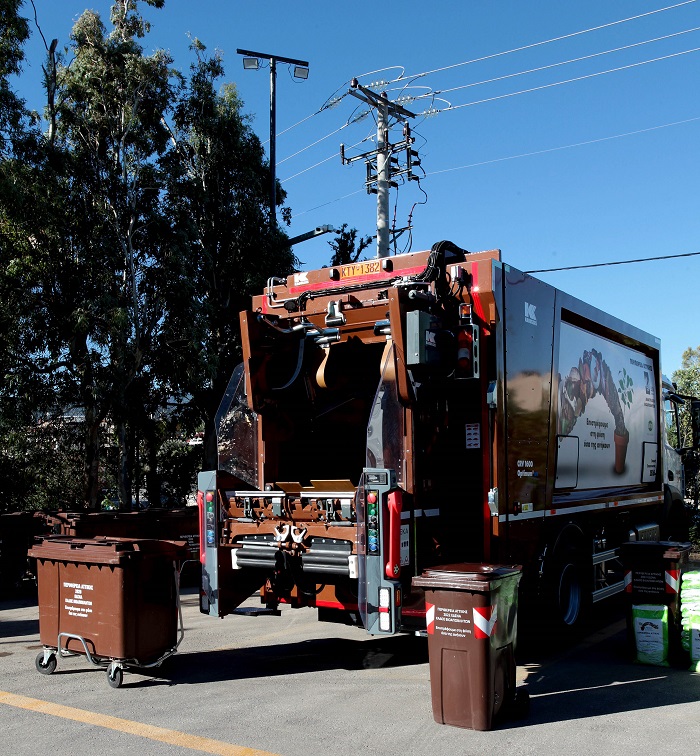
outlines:
[[[185,75],[146,54],[142,3],[164,0],[115,0],[109,29],[85,11],[70,60],[47,47],[42,135],[7,83],[21,3],[0,0],[0,474],[33,481],[35,506],[95,507],[114,484],[129,508],[142,476],[151,501],[180,497],[175,468],[202,449],[184,438],[213,437],[240,359],[238,311],[296,262],[220,57],[195,41]]]

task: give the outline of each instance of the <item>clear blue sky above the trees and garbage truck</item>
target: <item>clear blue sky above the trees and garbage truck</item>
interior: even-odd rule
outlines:
[[[108,20],[111,2],[35,5],[44,36],[62,47],[85,8]],[[24,12],[33,15],[28,0]],[[419,98],[405,107],[417,114],[425,174],[392,192],[392,220],[401,228],[410,216],[413,225],[399,251],[450,239],[499,248],[521,270],[700,252],[700,1],[165,0],[146,14],[146,50],[170,50],[178,68],[192,59],[188,35],[222,51],[226,80],[263,140],[269,71],[244,71],[236,49],[309,61],[306,81],[284,65],[277,76],[277,175],[294,214],[290,236],[343,223],[374,233],[365,167],[339,157],[341,142],[348,155],[374,146],[362,141],[376,131],[371,115],[341,97],[358,77],[387,82],[391,98]],[[36,30],[26,55],[18,89],[41,110]],[[330,238],[295,248],[303,268],[328,262]],[[699,272],[700,256],[691,256],[538,275],[660,337],[670,374],[700,344]]]

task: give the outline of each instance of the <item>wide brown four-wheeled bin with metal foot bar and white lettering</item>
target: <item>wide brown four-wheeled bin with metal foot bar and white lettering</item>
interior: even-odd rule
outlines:
[[[52,536],[29,554],[37,560],[39,672],[51,674],[57,656],[83,654],[119,687],[125,667],[158,666],[177,650],[184,542]]]

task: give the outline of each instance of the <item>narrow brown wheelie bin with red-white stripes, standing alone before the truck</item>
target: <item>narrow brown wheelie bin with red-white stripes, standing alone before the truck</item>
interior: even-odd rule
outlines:
[[[436,722],[490,730],[509,708],[523,713],[527,696],[515,687],[520,577],[518,566],[461,563],[413,578],[425,591]]]

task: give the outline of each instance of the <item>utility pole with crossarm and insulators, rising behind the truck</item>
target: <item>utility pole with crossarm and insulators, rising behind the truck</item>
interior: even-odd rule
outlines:
[[[419,165],[420,161],[414,161],[418,154],[411,149],[414,142],[411,136],[411,129],[408,122],[404,122],[404,141],[398,144],[391,144],[389,141],[389,118],[415,118],[415,113],[391,102],[386,92],[380,95],[371,89],[361,86],[357,79],[353,79],[351,89],[348,94],[357,97],[370,107],[376,108],[377,111],[377,149],[366,152],[362,155],[356,155],[352,158],[345,157],[345,146],[340,145],[340,158],[343,164],[348,165],[356,160],[365,159],[367,163],[367,193],[377,194],[377,257],[389,256],[390,229],[389,229],[389,189],[398,187],[398,184],[392,181],[401,175],[405,175],[409,180],[417,179],[412,175],[412,166]],[[397,165],[396,170],[392,166],[392,156],[395,152],[406,152],[406,165],[401,168]],[[373,173],[373,170],[376,171]]]

